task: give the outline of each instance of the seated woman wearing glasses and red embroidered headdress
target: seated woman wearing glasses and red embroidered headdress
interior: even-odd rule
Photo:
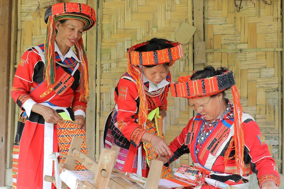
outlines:
[[[231,88],[233,103],[225,98]],[[278,188],[280,177],[275,160],[254,119],[242,111],[233,72],[207,66],[192,76],[171,83],[172,96],[188,98],[197,112],[169,145],[172,157],[160,157],[165,166],[183,154],[191,154],[196,167],[211,171],[214,180],[248,188],[254,172],[259,186]],[[205,186],[203,186],[205,187]]]

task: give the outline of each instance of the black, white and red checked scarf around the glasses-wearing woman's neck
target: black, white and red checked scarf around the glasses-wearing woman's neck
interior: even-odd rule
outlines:
[[[211,133],[211,131],[217,125],[218,122],[222,121],[223,119],[231,119],[231,118],[234,117],[234,105],[230,102],[229,99],[226,99],[226,101],[228,102],[228,105],[227,105],[225,112],[222,113],[222,115],[220,115],[214,121],[210,122],[208,120],[205,120],[201,116],[201,118],[203,120],[203,125],[201,126],[201,131],[200,131],[200,134],[198,136],[197,143],[196,143],[196,148],[195,148],[196,154],[198,153],[202,143],[205,141],[207,136]]]

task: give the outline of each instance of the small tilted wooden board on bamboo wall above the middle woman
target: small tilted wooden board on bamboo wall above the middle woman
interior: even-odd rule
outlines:
[[[175,34],[175,40],[183,45],[188,44],[196,29],[196,27],[183,22]]]

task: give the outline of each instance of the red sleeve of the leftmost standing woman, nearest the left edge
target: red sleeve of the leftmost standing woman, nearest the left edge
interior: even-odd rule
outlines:
[[[36,53],[30,52],[31,51],[26,50],[20,59],[11,89],[12,99],[14,99],[22,110],[24,110],[22,108],[24,102],[31,99],[28,93],[33,83],[34,67],[38,61],[41,60],[40,56]]]

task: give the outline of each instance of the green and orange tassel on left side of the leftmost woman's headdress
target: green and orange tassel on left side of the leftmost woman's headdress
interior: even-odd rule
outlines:
[[[49,16],[46,26],[46,38],[44,41],[44,71],[43,71],[43,80],[50,86],[56,81],[55,74],[55,51],[54,51],[54,42],[55,42],[55,19],[54,16]]]

